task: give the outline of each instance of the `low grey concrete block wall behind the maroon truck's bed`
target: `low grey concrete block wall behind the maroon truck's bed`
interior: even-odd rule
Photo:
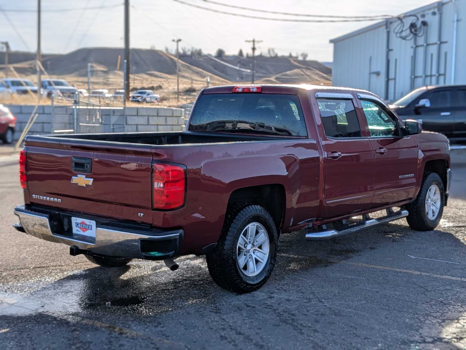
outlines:
[[[7,105],[16,116],[15,140],[24,130],[33,105]],[[80,133],[164,132],[185,130],[185,111],[182,108],[127,107],[126,127],[123,107],[79,108]],[[54,130],[74,128],[74,108],[71,106],[38,106],[38,116],[28,135],[52,133]],[[89,116],[89,117],[88,117]],[[88,122],[87,119],[90,121]],[[86,125],[83,125],[86,124]],[[89,125],[88,125],[89,124]]]

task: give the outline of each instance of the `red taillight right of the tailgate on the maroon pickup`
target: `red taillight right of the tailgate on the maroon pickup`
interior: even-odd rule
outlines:
[[[175,209],[185,203],[185,168],[181,165],[153,163],[152,208]]]

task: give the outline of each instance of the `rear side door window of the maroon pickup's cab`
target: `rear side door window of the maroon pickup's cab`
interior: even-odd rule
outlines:
[[[329,137],[361,137],[352,100],[318,98],[325,135]]]

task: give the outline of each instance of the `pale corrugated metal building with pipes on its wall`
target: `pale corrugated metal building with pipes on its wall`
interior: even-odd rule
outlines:
[[[332,84],[386,101],[423,85],[466,84],[465,16],[466,0],[438,1],[330,40]]]

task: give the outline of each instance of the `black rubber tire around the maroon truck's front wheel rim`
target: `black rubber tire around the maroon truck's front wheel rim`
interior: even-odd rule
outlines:
[[[440,209],[437,217],[435,217],[434,220],[430,220],[425,212],[425,197],[427,196],[429,188],[434,184],[437,185],[440,192]],[[406,209],[409,212],[409,215],[406,217],[406,221],[411,229],[416,231],[431,231],[437,227],[443,214],[443,206],[445,203],[444,194],[445,190],[439,174],[426,172],[423,176],[418,196],[414,202],[406,206]]]

